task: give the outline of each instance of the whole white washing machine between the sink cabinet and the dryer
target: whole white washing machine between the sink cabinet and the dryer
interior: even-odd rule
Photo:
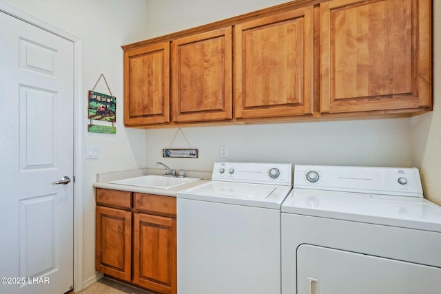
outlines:
[[[215,162],[177,194],[178,294],[279,294],[280,205],[291,164]]]

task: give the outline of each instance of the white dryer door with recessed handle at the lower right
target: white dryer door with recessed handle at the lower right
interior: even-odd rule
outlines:
[[[297,293],[438,294],[441,269],[400,260],[302,244]]]

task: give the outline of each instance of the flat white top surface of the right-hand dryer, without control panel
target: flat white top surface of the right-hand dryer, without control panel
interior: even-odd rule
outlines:
[[[441,207],[424,198],[294,188],[282,212],[441,232]]]

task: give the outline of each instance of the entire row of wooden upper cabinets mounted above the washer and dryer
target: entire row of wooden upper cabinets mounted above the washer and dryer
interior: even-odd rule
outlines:
[[[420,114],[432,0],[298,0],[123,46],[127,127]]]

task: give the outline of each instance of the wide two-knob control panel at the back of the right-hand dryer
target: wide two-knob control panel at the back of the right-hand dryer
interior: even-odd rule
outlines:
[[[416,168],[296,165],[294,188],[422,197]]]

